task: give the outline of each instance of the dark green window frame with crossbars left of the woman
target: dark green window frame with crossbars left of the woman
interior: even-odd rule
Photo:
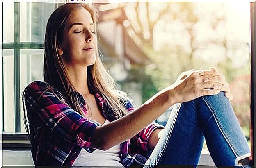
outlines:
[[[4,2],[3,2],[4,3]],[[4,7],[3,3],[2,8]],[[7,2],[8,3],[8,2]],[[4,133],[5,124],[4,124],[4,113],[2,113],[2,131],[3,141],[8,140],[27,140],[29,141],[26,133],[21,133],[21,107],[20,107],[20,50],[21,49],[44,49],[44,42],[21,42],[20,41],[20,2],[14,3],[14,42],[4,43],[4,37],[2,37],[2,51],[5,49],[14,50],[14,133]],[[29,3],[29,2],[26,2]],[[53,2],[54,3],[54,2]],[[54,3],[54,10],[57,9],[59,5],[63,3]],[[3,11],[2,11],[3,14]],[[3,20],[3,15],[2,15]],[[4,30],[4,23],[2,23],[2,31]],[[3,64],[3,62],[2,62]],[[3,68],[3,66],[2,66]],[[4,73],[2,71],[2,77]],[[4,80],[4,79],[3,79]],[[2,84],[4,81],[2,80]],[[4,85],[2,85],[2,104],[4,104]],[[2,106],[2,111],[4,111],[4,105]],[[31,145],[25,145],[26,143],[3,143],[3,150],[30,150]],[[19,148],[20,146],[20,148]]]

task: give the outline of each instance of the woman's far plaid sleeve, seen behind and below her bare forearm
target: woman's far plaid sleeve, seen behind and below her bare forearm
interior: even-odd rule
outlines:
[[[130,113],[131,111],[137,109],[135,104],[133,104],[132,100],[127,100],[125,103],[125,107]],[[134,154],[145,154],[148,152],[152,152],[151,150],[148,149],[147,145],[149,143],[149,138],[153,131],[155,129],[162,128],[164,129],[165,127],[163,125],[160,125],[153,121],[150,123],[148,126],[146,126],[142,131],[140,131],[138,134],[130,138],[130,144],[128,146],[128,151],[131,155]]]

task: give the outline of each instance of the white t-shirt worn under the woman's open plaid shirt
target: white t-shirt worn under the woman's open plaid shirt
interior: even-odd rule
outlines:
[[[107,123],[110,122],[105,120],[103,125]],[[92,153],[82,149],[77,159],[72,164],[72,167],[73,166],[119,166],[120,168],[124,168],[121,163],[121,145],[113,146],[106,151],[96,149]]]

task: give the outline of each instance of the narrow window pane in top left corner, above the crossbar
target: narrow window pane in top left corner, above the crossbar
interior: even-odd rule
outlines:
[[[3,3],[3,39],[5,42],[14,42],[14,3]]]

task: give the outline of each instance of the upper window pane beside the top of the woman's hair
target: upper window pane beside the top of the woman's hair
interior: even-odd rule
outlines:
[[[46,24],[54,3],[20,3],[21,42],[43,42]]]

